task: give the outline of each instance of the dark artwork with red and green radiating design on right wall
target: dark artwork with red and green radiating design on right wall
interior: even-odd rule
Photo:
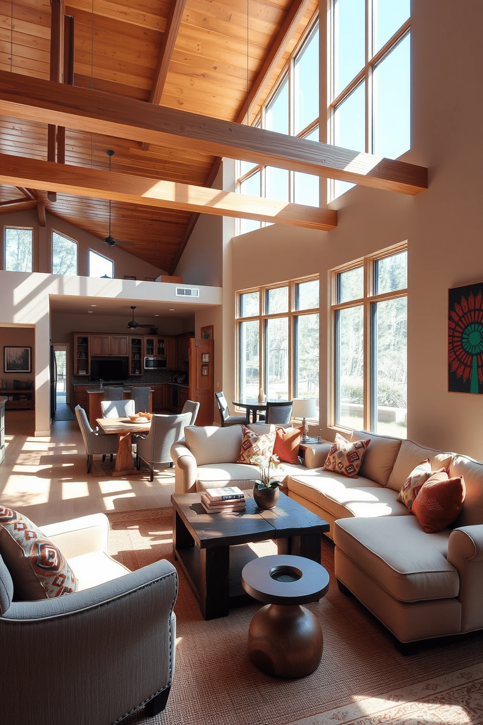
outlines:
[[[448,390],[483,393],[483,282],[448,291]]]

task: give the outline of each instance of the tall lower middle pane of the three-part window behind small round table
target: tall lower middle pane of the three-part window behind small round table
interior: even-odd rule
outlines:
[[[288,400],[288,318],[266,320],[266,397]]]

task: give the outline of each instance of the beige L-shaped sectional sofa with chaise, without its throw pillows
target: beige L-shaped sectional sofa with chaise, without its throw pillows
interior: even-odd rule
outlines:
[[[177,493],[251,486],[257,469],[236,463],[241,427],[185,432],[186,442],[172,448]],[[356,479],[324,471],[331,444],[309,447],[305,466],[285,465],[288,495],[330,524],[340,587],[356,595],[398,643],[483,629],[483,464],[364,431],[351,439],[370,439]],[[426,534],[397,500],[413,468],[428,458],[432,470],[445,468],[466,485],[458,519],[436,534]]]

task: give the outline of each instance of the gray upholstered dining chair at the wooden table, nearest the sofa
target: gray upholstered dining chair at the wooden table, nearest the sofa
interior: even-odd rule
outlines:
[[[185,426],[190,425],[192,414],[153,415],[151,428],[146,436],[136,439],[136,468],[143,460],[149,466],[150,481],[154,479],[154,466],[159,463],[173,465],[170,450],[184,436]]]

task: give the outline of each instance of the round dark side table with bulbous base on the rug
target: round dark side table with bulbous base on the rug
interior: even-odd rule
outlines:
[[[248,655],[260,670],[294,679],[314,672],[324,649],[322,627],[302,604],[329,589],[323,566],[301,556],[273,555],[243,567],[242,586],[260,602],[248,630]]]

